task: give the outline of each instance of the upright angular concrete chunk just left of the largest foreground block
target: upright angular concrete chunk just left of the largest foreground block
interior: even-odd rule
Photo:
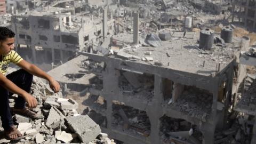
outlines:
[[[49,128],[55,129],[61,125],[65,116],[56,108],[52,107],[45,125]]]

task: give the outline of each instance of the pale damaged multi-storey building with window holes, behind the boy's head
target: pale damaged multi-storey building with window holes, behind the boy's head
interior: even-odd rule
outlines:
[[[12,29],[17,51],[36,63],[66,62],[76,52],[84,51],[89,43],[100,41],[97,35],[103,35],[101,20],[101,16],[82,17],[59,13],[54,8],[15,14]],[[113,20],[109,19],[106,30],[111,31],[111,25]]]

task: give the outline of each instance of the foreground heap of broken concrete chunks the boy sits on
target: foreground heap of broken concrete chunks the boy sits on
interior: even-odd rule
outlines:
[[[15,114],[14,124],[25,135],[19,143],[109,143],[114,144],[100,126],[88,115],[77,112],[78,103],[73,99],[62,98],[61,93],[54,94],[40,78],[34,77],[31,94],[38,100],[34,109],[38,119]],[[14,105],[13,95],[10,106]],[[0,143],[10,140],[0,139]]]

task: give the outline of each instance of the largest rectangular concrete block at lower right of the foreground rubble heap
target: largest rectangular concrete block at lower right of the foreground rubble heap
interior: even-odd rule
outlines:
[[[84,143],[89,143],[101,133],[100,126],[88,115],[68,116],[65,119],[69,128],[73,130]]]

